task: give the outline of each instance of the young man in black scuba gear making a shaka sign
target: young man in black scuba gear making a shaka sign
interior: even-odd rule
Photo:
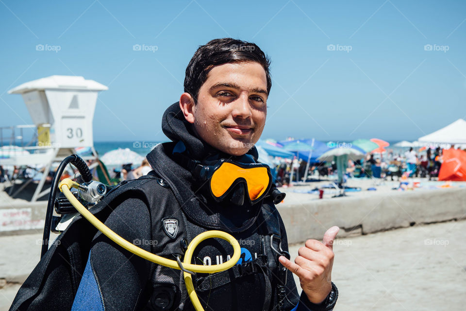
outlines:
[[[268,166],[257,161],[269,65],[253,43],[222,38],[200,46],[186,68],[184,93],[162,118],[171,142],[147,155],[153,171],[120,183],[89,208],[120,238],[176,260],[178,270],[121,247],[82,213],[85,218],[78,214],[44,252],[10,310],[332,310],[338,227],[327,230],[323,242],[306,241],[290,260],[275,208],[284,194],[273,187]],[[232,235],[240,248],[203,240],[188,263],[213,267],[235,259],[234,265],[216,273],[190,271],[181,258],[208,230]],[[201,307],[191,302],[193,292]]]

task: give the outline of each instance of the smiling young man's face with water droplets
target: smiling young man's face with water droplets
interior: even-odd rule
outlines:
[[[186,113],[185,117],[211,146],[230,155],[244,155],[264,130],[267,95],[266,72],[259,63],[219,65],[200,87],[192,117]]]

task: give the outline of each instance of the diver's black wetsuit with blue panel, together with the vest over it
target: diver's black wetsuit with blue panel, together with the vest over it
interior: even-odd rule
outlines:
[[[178,103],[167,109],[162,127],[173,142],[158,145],[147,155],[154,171],[120,187],[120,190],[135,187],[150,195],[129,192],[130,195],[112,198],[112,201],[105,203],[108,207],[100,207],[110,210],[105,216],[105,225],[133,244],[169,259],[175,259],[176,254],[182,255],[186,243],[203,231],[218,229],[232,234],[241,246],[238,263],[226,272],[194,277],[196,292],[205,310],[277,310],[279,301],[282,310],[286,311],[331,310],[336,300],[336,288],[333,288],[332,299],[327,299],[321,305],[312,304],[305,294],[301,297],[298,295],[289,271],[286,272],[287,281],[282,296],[277,294],[279,263],[270,251],[271,231],[281,236],[283,250],[288,250],[288,244],[282,219],[271,199],[266,198],[254,206],[226,206],[212,202],[202,195],[199,183],[174,160],[172,153],[175,143],[179,141],[186,146],[189,155],[197,159],[218,151],[191,132]],[[257,157],[255,148],[250,153]],[[71,224],[68,231],[76,231],[76,226]],[[111,242],[100,232],[90,239],[89,253],[85,251],[85,243],[84,246],[79,244],[79,247],[75,247],[79,251],[70,251],[73,243],[62,240],[61,245],[53,245],[48,252],[58,255],[46,254],[44,260],[54,262],[54,257],[62,257],[58,258],[59,270],[65,271],[62,272],[64,284],[61,287],[67,290],[59,288],[60,280],[50,279],[48,275],[54,273],[54,277],[58,278],[57,269],[47,268],[46,263],[41,265],[39,262],[24,288],[19,290],[11,310],[64,310],[60,306],[69,308],[71,305],[73,311],[193,310],[179,270],[142,259]],[[71,245],[65,245],[67,252],[60,253],[55,249],[64,247],[64,244]],[[198,246],[192,262],[207,265],[222,263],[232,253],[233,248],[228,242],[209,239]],[[76,259],[73,259],[73,254]],[[72,264],[72,269],[62,268],[68,260],[80,264]],[[40,271],[45,275],[42,278],[39,277]],[[34,279],[39,279],[39,284],[34,285]],[[78,283],[73,282],[78,279]],[[40,289],[37,290],[41,287],[47,289],[43,294]],[[33,294],[34,291],[37,293]],[[52,298],[53,294],[58,297]],[[57,301],[51,304],[46,299]]]

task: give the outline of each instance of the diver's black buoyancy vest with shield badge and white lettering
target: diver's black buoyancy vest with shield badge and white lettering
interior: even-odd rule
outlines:
[[[176,255],[183,257],[187,244],[201,232],[210,230],[186,218],[172,190],[154,171],[121,183],[89,210],[105,222],[128,197],[137,197],[150,207],[151,252],[154,254],[168,259],[175,259]],[[284,288],[279,279],[283,273],[278,254],[273,250],[280,249],[281,242],[278,212],[271,198],[258,204],[262,207],[253,225],[233,234],[242,247],[238,264],[227,271],[193,277],[204,309],[269,310],[276,306],[280,310],[283,306]],[[98,230],[78,215],[26,279],[11,310],[70,310],[96,233]],[[233,247],[222,241],[202,242],[194,253],[193,263],[216,264],[228,260]],[[182,271],[152,263],[150,273],[146,310],[193,309]]]

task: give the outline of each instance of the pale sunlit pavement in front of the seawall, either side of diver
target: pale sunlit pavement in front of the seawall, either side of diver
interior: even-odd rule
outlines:
[[[27,275],[39,259],[39,233],[0,237],[2,264]],[[419,225],[337,239],[332,280],[335,311],[464,310],[466,221]],[[292,258],[301,244],[290,245]],[[299,279],[295,276],[298,292]],[[0,283],[1,284],[1,283]],[[0,311],[8,310],[18,283],[0,289]]]

